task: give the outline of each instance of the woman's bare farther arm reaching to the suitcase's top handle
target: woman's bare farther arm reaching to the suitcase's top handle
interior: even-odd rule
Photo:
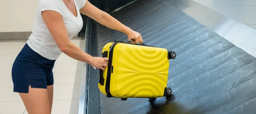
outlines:
[[[80,12],[81,14],[87,15],[88,17],[96,20],[97,22],[108,28],[127,34],[128,40],[135,39],[135,43],[143,43],[143,39],[140,33],[131,30],[131,28],[123,25],[118,20],[113,18],[110,14],[101,11],[97,7],[93,6],[88,0],[86,1],[85,6],[80,9]]]

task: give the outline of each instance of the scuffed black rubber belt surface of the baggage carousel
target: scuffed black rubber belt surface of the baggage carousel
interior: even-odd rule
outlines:
[[[184,14],[168,0],[139,0],[111,14],[140,32],[145,44],[174,50],[168,86],[171,99],[108,98],[100,94],[102,114],[255,114],[256,58]],[[127,36],[98,24],[103,46]]]

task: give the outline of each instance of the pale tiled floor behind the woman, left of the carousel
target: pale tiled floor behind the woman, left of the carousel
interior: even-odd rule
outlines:
[[[79,47],[84,40],[72,40]],[[12,63],[26,40],[0,41],[0,114],[28,114],[18,93],[13,92]],[[81,80],[81,62],[65,54],[56,60],[53,68],[54,97],[52,114],[77,114]]]

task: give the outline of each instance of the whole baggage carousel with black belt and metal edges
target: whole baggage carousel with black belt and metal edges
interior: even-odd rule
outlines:
[[[253,28],[190,0],[137,0],[111,15],[139,32],[145,44],[176,52],[169,63],[167,85],[173,95],[154,102],[108,98],[98,89],[99,70],[84,64],[87,77],[82,80],[87,81],[80,93],[79,114],[256,113],[256,58],[251,43],[243,45],[252,38],[252,31],[255,36]],[[227,28],[227,21],[236,26]],[[241,38],[241,34],[246,35]],[[86,38],[86,52],[95,57],[102,56],[106,43],[128,41],[126,34],[91,19],[87,20]]]

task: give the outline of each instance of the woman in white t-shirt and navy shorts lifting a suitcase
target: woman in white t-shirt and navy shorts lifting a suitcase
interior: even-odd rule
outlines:
[[[105,70],[108,58],[92,57],[70,39],[82,28],[81,14],[108,28],[128,35],[133,43],[143,43],[136,31],[97,9],[87,0],[41,0],[29,40],[12,67],[14,92],[18,92],[29,114],[50,114],[53,97],[52,68],[63,52],[73,59]]]

